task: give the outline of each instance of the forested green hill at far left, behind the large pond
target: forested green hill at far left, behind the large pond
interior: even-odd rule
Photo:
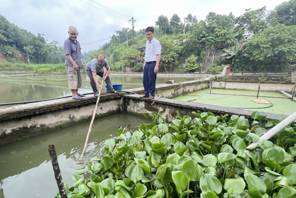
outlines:
[[[37,36],[10,23],[0,15],[0,62],[57,64],[65,60],[64,50],[57,41],[47,43],[44,35]]]

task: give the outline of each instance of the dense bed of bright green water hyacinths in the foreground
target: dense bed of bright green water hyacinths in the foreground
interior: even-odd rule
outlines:
[[[169,123],[153,112],[152,124],[118,130],[66,184],[68,197],[295,197],[295,124],[247,151],[279,120],[193,113]]]

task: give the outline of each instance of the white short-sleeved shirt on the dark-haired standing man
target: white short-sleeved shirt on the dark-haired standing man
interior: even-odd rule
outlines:
[[[153,38],[147,40],[145,48],[145,62],[156,61],[156,56],[161,53],[161,45],[158,40]]]

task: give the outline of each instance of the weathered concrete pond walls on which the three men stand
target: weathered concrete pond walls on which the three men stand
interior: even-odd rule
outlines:
[[[143,115],[144,112],[163,111],[164,115],[170,120],[176,116],[177,110],[181,115],[192,115],[192,111],[200,110],[218,114],[237,114],[250,118],[252,111],[170,99],[189,92],[209,88],[209,86],[209,79],[174,83],[171,85],[157,85],[157,97],[155,97],[155,101],[139,98],[140,95],[138,94],[143,94],[143,88],[127,90],[127,92],[132,92],[133,94],[125,92],[120,92],[120,94],[102,94],[96,117],[119,112]],[[274,87],[274,90],[288,90],[292,85],[275,85],[269,83],[264,84],[264,86]],[[212,87],[226,89],[254,88],[256,90],[258,89],[258,83],[214,81]],[[87,95],[83,100],[63,98],[1,107],[0,145],[90,121],[96,99],[91,94]],[[269,119],[283,119],[286,117],[273,113],[262,113],[262,115],[266,115]]]

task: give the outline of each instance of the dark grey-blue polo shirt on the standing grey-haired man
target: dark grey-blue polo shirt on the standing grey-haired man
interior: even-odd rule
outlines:
[[[64,42],[65,55],[71,55],[73,61],[81,68],[81,47],[78,40],[76,43],[70,37]],[[65,56],[65,65],[73,66],[73,64]]]

